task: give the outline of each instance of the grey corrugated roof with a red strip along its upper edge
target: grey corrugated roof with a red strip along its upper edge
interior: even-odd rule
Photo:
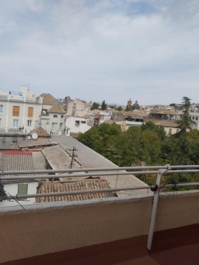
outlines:
[[[0,152],[0,169],[3,171],[46,169],[46,160],[41,152],[29,152],[29,151],[27,152],[21,150],[19,151],[13,150],[9,153],[5,153],[5,151],[2,151]],[[42,174],[29,174],[29,175],[42,175]],[[13,175],[6,175],[6,176],[13,176]],[[22,176],[22,174],[19,174],[19,176]],[[16,182],[16,181],[19,180],[4,179],[4,182]]]

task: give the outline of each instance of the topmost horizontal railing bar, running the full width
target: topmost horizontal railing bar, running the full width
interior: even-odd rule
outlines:
[[[177,168],[199,168],[199,165],[174,165],[171,169]],[[144,167],[108,167],[108,168],[66,168],[66,169],[44,169],[44,170],[12,170],[1,171],[0,175],[14,174],[50,174],[50,173],[66,173],[66,172],[89,172],[89,171],[115,171],[115,170],[144,170],[144,169],[167,169],[167,166],[144,166]]]

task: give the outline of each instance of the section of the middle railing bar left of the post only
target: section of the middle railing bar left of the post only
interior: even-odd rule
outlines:
[[[44,179],[44,178],[75,178],[75,177],[95,177],[95,176],[111,176],[111,175],[144,175],[144,174],[158,174],[159,171],[127,171],[127,172],[98,172],[98,173],[83,173],[83,174],[59,174],[59,175],[35,175],[35,176],[11,176],[4,177],[3,180],[17,180],[17,179]]]

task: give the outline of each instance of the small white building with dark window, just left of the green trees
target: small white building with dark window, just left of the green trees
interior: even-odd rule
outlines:
[[[91,126],[88,125],[88,120],[75,116],[66,116],[65,126],[72,133],[84,133],[91,128]]]

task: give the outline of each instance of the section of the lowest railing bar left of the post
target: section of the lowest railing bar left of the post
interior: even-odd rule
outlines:
[[[65,195],[78,195],[78,194],[90,194],[90,193],[103,193],[103,192],[115,192],[115,191],[131,191],[131,190],[142,190],[150,189],[155,186],[137,186],[137,187],[127,187],[127,188],[107,188],[107,189],[96,189],[96,190],[84,190],[84,191],[61,191],[52,193],[37,193],[37,194],[26,194],[26,195],[14,195],[8,196],[7,199],[23,199],[23,198],[36,198],[36,197],[55,197],[55,196],[65,196]]]

